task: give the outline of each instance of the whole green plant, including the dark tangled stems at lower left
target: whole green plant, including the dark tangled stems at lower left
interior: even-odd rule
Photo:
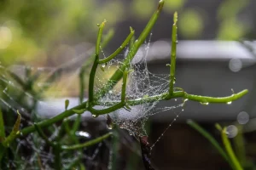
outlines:
[[[160,0],[158,7],[154,14],[152,15],[151,19],[148,21],[147,26],[145,26],[143,32],[140,34],[139,37],[135,40],[134,37],[134,30],[130,28],[131,32],[130,34],[125,38],[125,41],[120,45],[119,48],[116,49],[116,51],[113,52],[113,54],[110,54],[108,57],[101,59],[100,58],[100,49],[105,47],[105,45],[108,43],[109,39],[113,36],[113,32],[109,32],[105,39],[102,41],[102,32],[103,28],[106,25],[106,20],[102,22],[102,24],[98,25],[99,31],[96,38],[96,50],[95,54],[93,54],[90,59],[85,63],[81,70],[80,70],[80,105],[77,105],[73,108],[68,109],[68,100],[65,102],[65,108],[66,111],[63,111],[57,116],[51,117],[49,119],[45,119],[42,121],[34,121],[32,125],[27,125],[26,127],[22,127],[20,129],[20,122],[21,116],[23,116],[22,111],[17,111],[17,119],[15,122],[14,127],[11,130],[11,133],[7,134],[5,133],[4,124],[7,123],[3,119],[4,112],[0,112],[0,162],[1,167],[9,167],[9,165],[4,165],[4,160],[10,159],[9,157],[9,149],[15,150],[17,148],[17,139],[25,138],[26,135],[34,135],[37,133],[42,139],[44,139],[44,143],[46,143],[52,150],[52,153],[55,157],[54,164],[52,167],[55,167],[55,169],[61,169],[62,163],[61,159],[63,155],[67,152],[75,151],[77,154],[77,159],[73,161],[73,163],[69,164],[67,168],[72,167],[83,167],[82,163],[79,161],[81,156],[83,155],[83,148],[89,147],[94,144],[98,144],[104,139],[108,139],[110,136],[113,135],[113,133],[106,133],[96,139],[89,140],[85,143],[80,143],[79,139],[76,139],[75,133],[79,129],[79,123],[81,122],[81,114],[84,113],[84,111],[90,111],[93,117],[100,116],[100,115],[107,115],[109,113],[112,113],[113,111],[117,111],[119,109],[125,109],[127,111],[131,110],[131,107],[135,105],[143,105],[147,103],[153,103],[154,101],[160,101],[160,100],[170,100],[170,99],[176,99],[181,98],[183,101],[192,100],[196,102],[200,102],[203,105],[208,105],[211,103],[224,103],[229,104],[230,102],[240,99],[243,95],[247,94],[247,90],[242,90],[241,92],[237,94],[232,94],[227,97],[209,97],[209,96],[201,96],[201,95],[194,95],[194,94],[188,94],[186,93],[183,88],[175,88],[174,83],[176,81],[175,78],[175,71],[176,71],[176,47],[177,47],[177,13],[174,14],[173,19],[173,26],[172,26],[172,54],[171,54],[171,63],[168,64],[170,66],[170,83],[169,83],[169,90],[166,93],[163,94],[157,94],[154,96],[144,96],[143,98],[138,99],[127,99],[126,98],[126,88],[127,88],[127,79],[129,74],[131,74],[130,68],[131,68],[131,60],[135,57],[137,54],[138,49],[142,46],[143,42],[145,41],[146,37],[148,37],[148,34],[150,33],[152,27],[154,26],[154,23],[160,16],[160,12],[164,6],[165,1]],[[101,68],[102,71],[104,71],[104,65],[108,65],[108,62],[114,59],[121,51],[124,50],[125,46],[129,45],[131,48],[126,55],[126,58],[124,62],[119,66],[119,68],[113,73],[113,76],[109,78],[108,82],[104,85],[104,87],[96,92],[95,91],[95,79],[96,79],[96,71],[98,68]],[[86,68],[90,65],[90,61],[92,61],[92,66],[90,70],[90,77],[89,77],[89,89],[88,89],[88,100],[83,101],[84,98],[84,72],[86,71]],[[22,82],[20,80],[20,77],[15,76],[14,74],[8,72],[7,74],[11,75],[11,77],[15,78],[16,82],[20,82],[23,87],[29,87],[31,89],[32,85],[29,84],[26,86],[25,82]],[[109,90],[113,89],[116,84],[122,81],[121,85],[121,92],[120,92],[120,99],[119,101],[109,101],[108,107],[106,107],[106,104],[104,104],[102,109],[96,109],[97,105],[102,105],[101,100],[104,95],[108,93]],[[41,92],[41,91],[39,91]],[[38,92],[38,93],[39,93]],[[37,93],[35,96],[38,96]],[[73,122],[73,127],[70,127],[69,119],[68,117],[73,115],[78,115],[75,122]],[[108,116],[108,125],[112,124],[111,118]],[[45,133],[45,129],[49,127],[53,127],[55,125],[60,125],[58,128],[58,134],[55,135],[54,138],[49,138],[49,134]],[[64,133],[63,133],[64,132]],[[73,144],[65,144],[65,142],[62,141],[63,136],[67,135],[70,139],[73,140]],[[148,151],[148,141],[146,137],[139,136],[137,137],[141,141],[142,146],[142,152],[143,152],[143,161],[144,165],[147,169],[153,169],[151,166],[150,160],[150,151]],[[38,161],[40,162],[40,161]],[[40,163],[39,163],[40,166]],[[9,167],[11,168],[11,167]]]

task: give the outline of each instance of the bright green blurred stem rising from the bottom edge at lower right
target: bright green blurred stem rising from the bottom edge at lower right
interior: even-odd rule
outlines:
[[[243,170],[243,168],[241,167],[240,162],[237,160],[236,155],[235,155],[235,153],[232,149],[232,146],[230,144],[230,140],[227,137],[226,127],[224,127],[224,129],[221,132],[221,138],[222,138],[225,150],[228,153],[228,155],[230,156],[230,161],[233,163],[235,169],[236,170]]]

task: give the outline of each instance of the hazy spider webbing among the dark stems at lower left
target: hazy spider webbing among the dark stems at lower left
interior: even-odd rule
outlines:
[[[56,68],[35,68],[27,65],[13,65],[11,67],[6,68],[3,65],[0,65],[0,69],[0,106],[3,112],[5,125],[13,125],[15,123],[17,110],[19,110],[21,114],[20,128],[31,126],[33,122],[40,122],[41,120],[44,120],[45,116],[38,114],[37,110],[38,103],[44,103],[44,98],[35,96],[31,90],[21,87],[20,83],[16,82],[15,78],[10,77],[9,75],[16,75],[20,77],[21,80],[26,82],[26,79],[28,79],[28,77],[24,75],[22,76],[22,74],[20,73],[25,72],[25,70],[27,69],[33,71],[32,76],[38,75],[38,77],[40,77],[42,75],[47,75],[47,77],[50,77],[50,75],[52,75],[52,73],[56,71]],[[67,82],[73,82],[73,79],[77,77],[77,71],[73,72],[74,73],[72,73],[72,76],[68,78],[69,81]],[[36,81],[36,83],[34,84],[35,89],[53,88],[53,86],[56,86],[59,89],[62,88],[60,84],[55,84],[56,80],[41,83],[42,79],[45,79],[45,77],[38,78],[38,81]],[[65,85],[71,86],[72,83],[66,83]],[[58,96],[58,93],[59,92],[51,93],[50,98]],[[13,117],[13,120],[11,120],[12,123],[9,123],[9,117]],[[100,126],[104,127],[102,122],[98,123]],[[81,123],[81,127],[85,127],[86,129],[86,127],[88,126],[86,124],[83,124],[84,123]],[[5,131],[7,135],[11,132],[12,128],[13,126],[5,126]],[[51,130],[49,130],[48,137],[49,140],[54,140],[56,139],[61,127],[54,125],[50,128]],[[87,133],[87,135],[82,135],[84,133],[87,132],[83,130],[78,131],[76,133],[77,138],[81,142],[89,141],[90,139],[96,138],[97,136],[100,135],[98,134],[99,132],[97,132],[96,134]],[[104,133],[106,133],[106,131]],[[65,134],[63,134],[63,136],[64,135]],[[90,138],[91,136],[93,138]],[[64,136],[64,138],[67,137]],[[106,152],[106,149],[102,150],[102,148],[107,148],[108,151],[108,146],[106,145],[106,143],[108,143],[108,141],[96,144],[95,146],[88,150],[84,149],[82,156],[79,155],[79,152],[77,150],[74,150],[73,153],[69,154],[68,156],[66,151],[61,152],[61,166],[67,169],[67,167],[71,163],[77,161],[77,156],[79,155],[80,159],[86,162],[86,166],[90,167],[89,169],[99,167],[99,156],[102,154],[102,152]],[[29,135],[26,135],[24,137],[21,136],[21,138],[16,139],[14,144],[10,145],[9,153],[11,153],[9,159],[4,160],[4,163],[6,164],[6,167],[8,169],[54,169],[52,168],[55,159],[53,150],[51,147],[49,147],[49,144],[45,143],[44,139],[38,136],[38,133],[31,133]]]

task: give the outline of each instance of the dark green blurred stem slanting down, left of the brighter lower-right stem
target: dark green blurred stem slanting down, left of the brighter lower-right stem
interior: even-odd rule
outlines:
[[[214,139],[210,133],[208,133],[199,124],[192,120],[188,120],[187,123],[189,124],[190,127],[193,127],[197,132],[201,133],[202,136],[209,140],[211,144],[215,147],[215,149],[218,150],[218,153],[224,157],[224,160],[228,161],[230,163],[230,166],[232,166],[232,162],[230,161],[229,156],[225,153],[222,147],[218,144],[217,140]]]

